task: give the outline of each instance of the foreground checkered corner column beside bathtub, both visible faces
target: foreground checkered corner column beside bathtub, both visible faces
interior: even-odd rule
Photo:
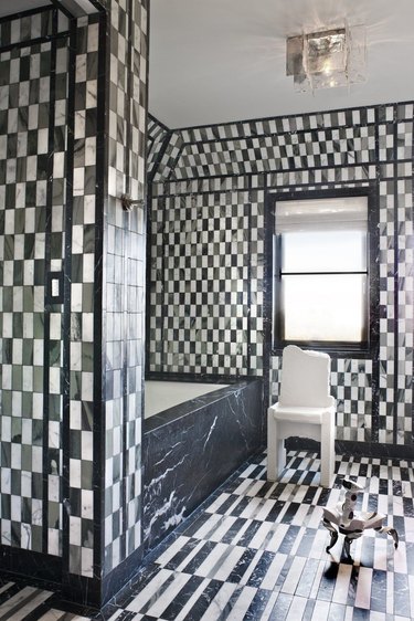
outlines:
[[[64,582],[102,603],[141,556],[147,9],[77,20]],[[76,267],[76,270],[75,270]]]

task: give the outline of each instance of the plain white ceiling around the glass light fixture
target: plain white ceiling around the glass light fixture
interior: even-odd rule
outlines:
[[[286,36],[367,27],[367,82],[297,93]],[[150,0],[149,112],[170,128],[414,101],[413,0]]]

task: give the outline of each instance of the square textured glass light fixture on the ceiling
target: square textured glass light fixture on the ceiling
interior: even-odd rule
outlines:
[[[286,41],[286,75],[295,91],[349,86],[365,81],[365,28],[338,28]]]

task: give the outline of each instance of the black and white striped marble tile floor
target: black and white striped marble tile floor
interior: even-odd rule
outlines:
[[[241,469],[102,612],[56,594],[0,582],[0,621],[410,621],[414,619],[414,463],[337,457],[332,490],[319,487],[316,455],[289,455],[266,481],[259,455]],[[342,554],[326,552],[322,507],[347,476],[365,486],[358,511],[378,511],[400,535],[368,530]]]

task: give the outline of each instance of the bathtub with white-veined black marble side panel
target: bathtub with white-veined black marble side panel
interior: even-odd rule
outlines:
[[[148,552],[263,449],[264,415],[261,378],[226,385],[146,382],[145,392],[142,531]]]

